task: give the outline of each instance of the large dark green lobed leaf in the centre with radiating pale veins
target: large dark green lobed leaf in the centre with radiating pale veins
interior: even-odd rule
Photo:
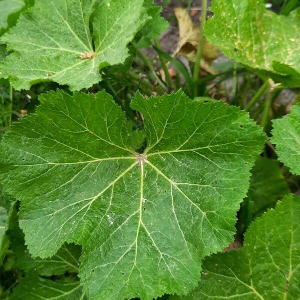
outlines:
[[[246,112],[181,91],[145,99],[147,147],[105,92],[40,96],[0,145],[0,181],[21,201],[29,252],[82,244],[91,299],[151,300],[197,284],[203,256],[232,240],[265,136]],[[159,109],[158,109],[159,107]]]

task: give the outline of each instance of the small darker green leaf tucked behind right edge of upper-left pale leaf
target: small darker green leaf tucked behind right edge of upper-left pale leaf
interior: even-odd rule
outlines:
[[[166,30],[168,23],[161,16],[161,7],[153,4],[153,0],[144,0],[147,14],[151,16],[142,28],[138,31],[134,38],[134,46],[136,48],[146,48],[152,44],[154,38],[158,38],[160,34]]]

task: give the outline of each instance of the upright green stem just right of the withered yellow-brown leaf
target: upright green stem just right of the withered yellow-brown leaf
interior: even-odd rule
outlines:
[[[199,43],[198,49],[196,54],[196,61],[193,68],[193,82],[194,82],[194,97],[197,95],[197,85],[195,82],[198,80],[199,77],[199,68],[201,63],[201,56],[202,56],[202,49],[203,49],[203,40],[204,40],[204,25],[206,22],[206,15],[207,15],[207,0],[202,0],[202,10],[201,10],[201,24],[200,24],[200,36],[199,36]]]

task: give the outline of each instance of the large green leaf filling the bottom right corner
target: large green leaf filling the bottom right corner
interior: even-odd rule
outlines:
[[[213,254],[187,297],[171,299],[297,299],[300,294],[300,198],[286,195],[251,223],[244,246]]]

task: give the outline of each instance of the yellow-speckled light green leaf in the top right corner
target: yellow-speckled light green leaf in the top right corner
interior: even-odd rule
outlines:
[[[287,78],[274,79],[300,85],[300,9],[285,16],[264,5],[264,0],[213,0],[214,16],[206,23],[205,35],[228,57],[259,72],[264,70],[263,76],[279,73]],[[295,80],[294,73],[297,82],[286,82]]]

